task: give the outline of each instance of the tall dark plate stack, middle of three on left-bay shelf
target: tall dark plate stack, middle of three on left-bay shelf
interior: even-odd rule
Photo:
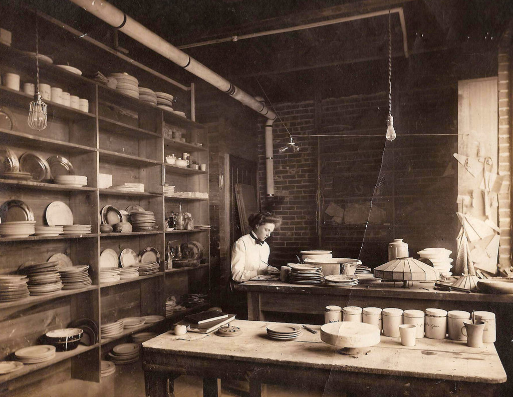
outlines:
[[[45,262],[23,266],[22,271],[29,277],[31,295],[45,295],[63,288],[57,265],[58,262]]]

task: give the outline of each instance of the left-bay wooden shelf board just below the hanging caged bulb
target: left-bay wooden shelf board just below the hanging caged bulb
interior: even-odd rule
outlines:
[[[26,146],[29,148],[48,149],[51,151],[66,151],[70,153],[95,152],[96,148],[77,145],[64,141],[57,141],[45,136],[27,134],[25,132],[10,131],[0,128],[0,141],[11,146]]]

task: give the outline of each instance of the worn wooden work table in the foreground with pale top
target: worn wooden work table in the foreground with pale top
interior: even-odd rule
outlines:
[[[251,397],[262,395],[263,384],[319,387],[329,395],[488,397],[499,395],[506,381],[493,344],[473,349],[464,342],[424,338],[405,347],[400,338],[382,336],[380,344],[361,354],[343,355],[322,342],[320,332],[270,339],[268,324],[235,320],[231,325],[242,333],[233,338],[167,332],[144,342],[147,395],[173,396],[173,380],[182,374],[201,376],[205,397],[220,395],[220,379],[249,381]]]

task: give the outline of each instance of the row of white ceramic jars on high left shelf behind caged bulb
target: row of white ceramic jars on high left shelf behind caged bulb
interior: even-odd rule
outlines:
[[[11,90],[19,91],[19,75],[16,73],[4,74],[4,86]],[[35,94],[35,85],[33,83],[25,83],[23,85],[23,92],[29,95]],[[62,88],[51,87],[49,84],[40,83],[39,92],[43,101],[52,101],[56,104],[69,106],[73,109],[89,112],[89,101],[84,98],[79,98],[76,95],[71,95],[69,92],[64,92]]]

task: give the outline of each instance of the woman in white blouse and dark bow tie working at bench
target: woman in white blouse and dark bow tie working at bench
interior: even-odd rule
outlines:
[[[233,244],[231,250],[231,276],[234,282],[242,283],[259,274],[279,274],[269,266],[269,245],[265,242],[281,219],[270,212],[251,214],[248,218],[251,231]]]

